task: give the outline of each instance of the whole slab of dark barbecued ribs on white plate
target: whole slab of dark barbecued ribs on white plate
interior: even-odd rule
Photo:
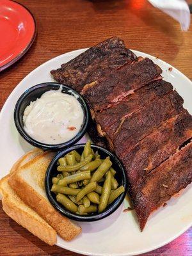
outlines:
[[[141,230],[152,212],[192,182],[192,117],[161,72],[116,37],[51,71],[83,95],[92,140],[124,164]]]

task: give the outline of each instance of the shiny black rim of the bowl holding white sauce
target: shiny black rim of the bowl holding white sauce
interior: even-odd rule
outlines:
[[[77,95],[81,101],[81,107],[83,108],[83,111],[84,111],[85,120],[83,122],[83,125],[82,125],[80,131],[71,140],[66,141],[64,143],[60,143],[60,144],[46,144],[46,143],[42,143],[40,141],[36,141],[35,139],[31,138],[27,134],[26,131],[24,131],[22,125],[20,124],[20,120],[19,120],[19,109],[22,104],[22,101],[24,99],[26,99],[26,97],[28,97],[28,95],[30,95],[31,92],[33,92],[39,88],[44,88],[44,87],[49,87],[49,86],[55,86],[55,87],[63,86],[63,88],[65,90],[71,91],[74,95]],[[88,109],[88,106],[87,106],[85,100],[83,99],[83,97],[78,92],[76,92],[76,90],[70,88],[69,86],[66,86],[65,84],[55,83],[55,82],[40,83],[40,84],[36,84],[35,86],[32,86],[31,88],[27,89],[24,93],[22,93],[22,95],[20,95],[19,99],[17,100],[17,103],[15,104],[14,122],[15,122],[15,126],[16,126],[19,134],[22,136],[22,138],[24,138],[24,140],[28,141],[28,143],[30,143],[31,145],[38,147],[38,148],[42,148],[44,150],[58,151],[58,150],[62,150],[63,148],[66,148],[66,147],[70,147],[70,145],[77,143],[77,141],[81,140],[81,138],[84,136],[84,134],[86,133],[86,129],[88,127],[88,122],[89,122],[89,109]]]

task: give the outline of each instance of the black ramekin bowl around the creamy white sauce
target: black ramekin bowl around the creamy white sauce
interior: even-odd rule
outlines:
[[[31,101],[36,100],[37,98],[40,98],[41,95],[49,90],[59,90],[61,84],[59,83],[42,83],[42,84],[36,84],[35,86],[29,88],[24,92],[19,100],[17,100],[17,103],[15,105],[14,110],[14,121],[15,125],[17,127],[17,131],[19,131],[20,135],[24,140],[28,141],[31,145],[42,148],[44,150],[51,150],[51,151],[60,151],[63,148],[70,147],[70,145],[74,145],[79,141],[83,135],[86,133],[86,129],[88,126],[88,120],[89,120],[89,110],[86,105],[86,102],[84,101],[83,97],[77,93],[75,90],[72,90],[72,88],[65,86],[62,84],[62,90],[61,92],[67,93],[73,96],[76,96],[77,100],[81,104],[81,108],[83,109],[84,118],[83,118],[83,124],[81,125],[80,131],[72,138],[72,140],[69,140],[65,143],[61,144],[45,144],[40,141],[36,141],[33,138],[31,138],[26,131],[24,131],[24,123],[23,123],[23,113],[27,106],[29,106]]]

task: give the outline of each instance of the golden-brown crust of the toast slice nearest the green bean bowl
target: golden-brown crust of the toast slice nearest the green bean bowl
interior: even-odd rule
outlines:
[[[44,156],[46,154],[50,153],[45,152]],[[19,195],[19,197],[34,211],[42,216],[42,218],[44,218],[44,220],[46,220],[63,239],[70,241],[81,233],[81,227],[72,223],[72,221],[65,218],[65,216],[61,216],[61,214],[52,207],[49,201],[44,198],[44,196],[38,194],[20,175],[25,168],[28,168],[32,163],[38,161],[40,157],[42,156],[36,157],[22,166],[17,173],[13,173],[8,180],[8,183],[16,191],[17,195]]]

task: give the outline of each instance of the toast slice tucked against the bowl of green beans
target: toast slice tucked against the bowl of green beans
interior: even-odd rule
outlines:
[[[81,233],[81,227],[62,216],[50,204],[45,194],[44,181],[53,153],[44,152],[13,172],[8,183],[19,197],[36,211],[66,241]]]

